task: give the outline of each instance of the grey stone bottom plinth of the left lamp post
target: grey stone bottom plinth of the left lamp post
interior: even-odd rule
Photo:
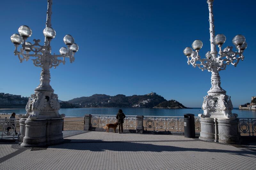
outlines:
[[[26,119],[23,147],[39,147],[63,142],[62,118]]]

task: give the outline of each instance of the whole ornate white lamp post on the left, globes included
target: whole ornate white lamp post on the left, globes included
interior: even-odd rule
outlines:
[[[66,35],[63,41],[67,48],[60,48],[60,55],[51,54],[50,42],[56,36],[55,30],[51,27],[51,15],[52,0],[48,0],[43,46],[39,44],[40,40],[34,39],[34,44],[27,41],[32,35],[28,26],[20,26],[19,34],[11,36],[11,41],[15,45],[14,55],[18,55],[20,63],[33,57],[33,64],[42,67],[40,85],[36,87],[35,94],[32,94],[28,100],[27,113],[20,115],[20,136],[18,140],[22,142],[22,146],[54,144],[63,140],[62,118],[65,115],[59,114],[58,95],[53,93],[54,90],[50,85],[50,68],[56,68],[60,63],[65,64],[65,58],[69,58],[70,63],[72,63],[75,60],[74,54],[78,51],[78,46],[74,43],[74,38],[71,35]],[[18,51],[20,44],[22,48]]]

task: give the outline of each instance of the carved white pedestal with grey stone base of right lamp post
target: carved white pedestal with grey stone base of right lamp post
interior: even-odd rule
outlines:
[[[199,114],[201,132],[199,139],[228,144],[239,144],[237,114],[232,114],[233,105],[231,97],[220,86],[219,71],[212,71],[212,87],[204,97],[202,109]]]

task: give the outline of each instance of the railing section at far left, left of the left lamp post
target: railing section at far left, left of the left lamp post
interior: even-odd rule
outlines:
[[[3,136],[13,136],[12,139],[14,139],[15,128],[18,123],[18,119],[0,119],[1,139]]]

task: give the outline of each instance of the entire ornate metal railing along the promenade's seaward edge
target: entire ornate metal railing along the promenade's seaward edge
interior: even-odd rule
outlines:
[[[195,117],[195,130],[201,130],[200,118]],[[85,117],[65,117],[63,127],[65,130],[83,130]],[[92,127],[103,128],[108,123],[115,123],[116,115],[92,115]],[[144,130],[147,131],[184,131],[183,116],[144,116]],[[0,135],[15,137],[15,129],[19,132],[18,119],[0,119]],[[124,129],[136,129],[138,120],[135,115],[126,115]],[[81,126],[81,127],[80,127]],[[256,118],[239,118],[239,132],[241,136],[256,136]]]

